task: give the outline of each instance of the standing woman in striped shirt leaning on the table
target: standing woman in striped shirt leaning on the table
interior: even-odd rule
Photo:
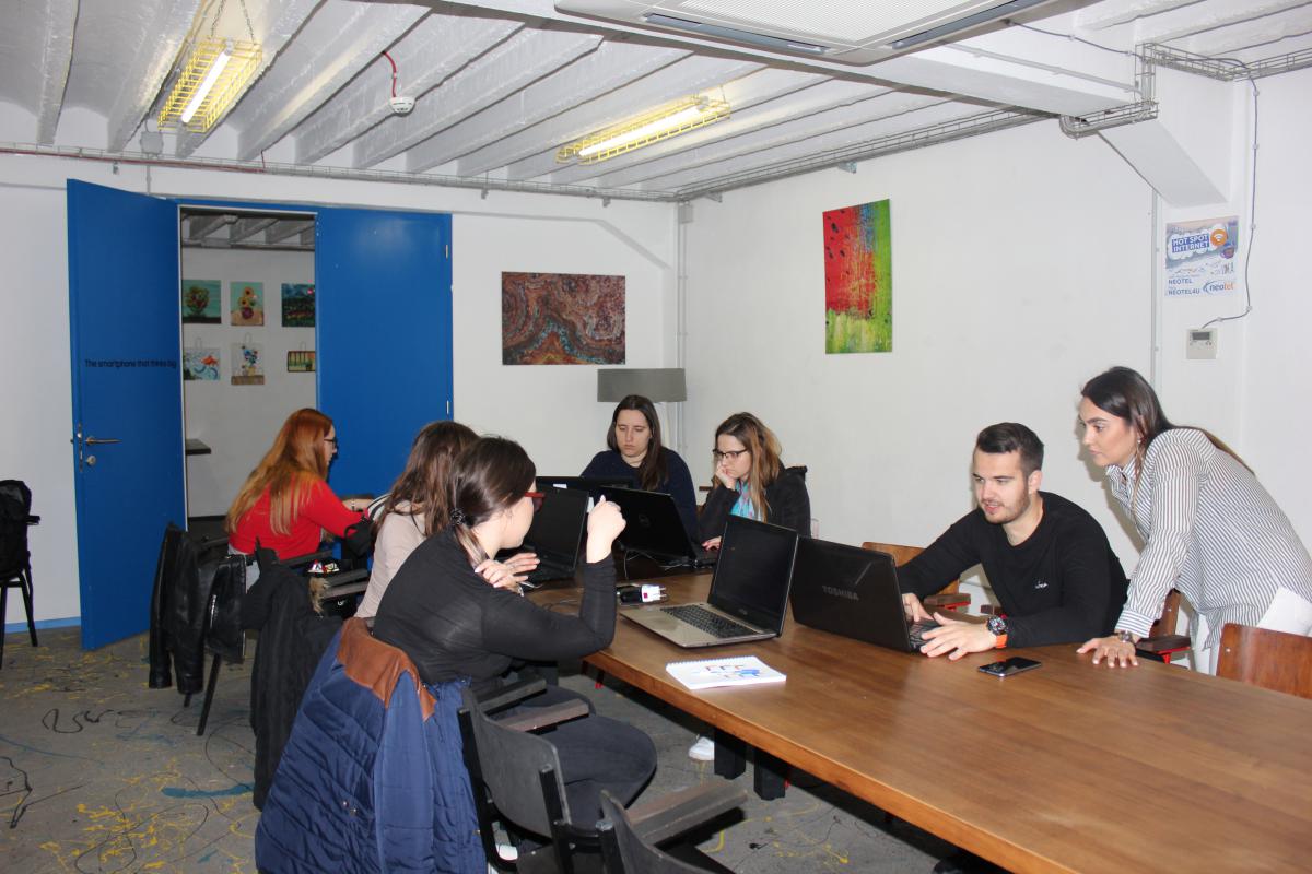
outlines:
[[[1172,425],[1128,367],[1081,392],[1084,446],[1144,537],[1117,630],[1080,647],[1093,663],[1138,664],[1135,643],[1172,588],[1206,621],[1194,666],[1214,672],[1225,622],[1312,634],[1312,558],[1253,472],[1202,428]]]

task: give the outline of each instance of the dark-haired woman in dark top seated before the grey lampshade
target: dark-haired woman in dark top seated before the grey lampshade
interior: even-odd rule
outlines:
[[[585,477],[630,480],[643,491],[664,491],[674,498],[689,537],[697,537],[697,494],[684,459],[661,446],[656,408],[642,394],[628,394],[615,405],[604,452],[583,469]]]

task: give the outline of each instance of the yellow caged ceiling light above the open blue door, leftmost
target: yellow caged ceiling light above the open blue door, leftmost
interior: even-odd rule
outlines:
[[[241,96],[262,56],[256,42],[198,39],[160,109],[160,128],[209,131]]]

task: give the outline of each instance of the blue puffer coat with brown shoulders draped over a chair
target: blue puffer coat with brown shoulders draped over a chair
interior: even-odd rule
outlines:
[[[256,831],[261,871],[487,870],[455,683],[348,620],[300,702]]]

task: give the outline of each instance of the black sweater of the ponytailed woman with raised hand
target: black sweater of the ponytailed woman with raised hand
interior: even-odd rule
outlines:
[[[374,637],[405,651],[424,683],[495,685],[512,659],[554,662],[610,645],[615,633],[615,566],[586,565],[583,608],[555,613],[474,573],[455,535],[445,531],[411,553],[374,620]]]

